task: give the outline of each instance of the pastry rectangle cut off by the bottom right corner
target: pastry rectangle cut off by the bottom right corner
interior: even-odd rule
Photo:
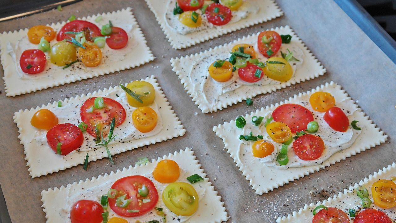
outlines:
[[[396,164],[392,163],[354,186],[349,186],[349,189],[344,189],[344,192],[339,192],[338,196],[334,195],[333,198],[317,204],[306,204],[298,212],[294,211],[293,215],[278,217],[276,222],[314,223],[318,222],[316,218],[337,208],[337,212],[343,213],[338,217],[333,216],[334,221],[340,219],[348,223],[393,223],[396,219],[395,176]],[[331,214],[327,214],[327,219],[330,216]]]

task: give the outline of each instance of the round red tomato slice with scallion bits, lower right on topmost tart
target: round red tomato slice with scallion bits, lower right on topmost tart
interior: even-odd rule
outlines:
[[[205,15],[206,19],[213,25],[225,25],[232,18],[230,8],[219,3],[210,4],[208,8],[206,8]]]

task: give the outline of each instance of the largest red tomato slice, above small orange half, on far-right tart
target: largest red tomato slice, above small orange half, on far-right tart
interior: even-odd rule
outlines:
[[[307,129],[308,123],[314,121],[312,112],[299,104],[282,104],[275,108],[272,117],[289,126],[292,133]]]

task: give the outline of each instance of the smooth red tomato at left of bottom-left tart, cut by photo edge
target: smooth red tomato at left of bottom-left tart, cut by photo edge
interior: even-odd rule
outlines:
[[[70,210],[72,223],[101,223],[103,208],[101,204],[93,200],[79,200],[73,204]]]

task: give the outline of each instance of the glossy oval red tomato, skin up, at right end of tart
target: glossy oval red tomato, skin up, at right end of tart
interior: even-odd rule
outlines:
[[[341,108],[335,106],[329,108],[329,110],[324,113],[323,119],[327,124],[329,124],[331,129],[334,129],[335,131],[345,133],[346,130],[348,130],[349,119]]]

